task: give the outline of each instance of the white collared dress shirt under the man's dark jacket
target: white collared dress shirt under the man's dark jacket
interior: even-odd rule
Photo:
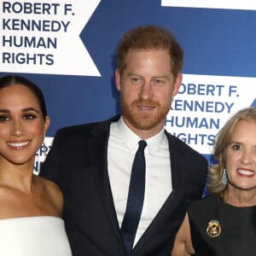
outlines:
[[[125,125],[122,117],[110,126],[108,141],[108,175],[119,227],[121,227],[128,198],[131,166],[141,138]],[[143,212],[134,245],[143,236],[157,212],[172,192],[169,144],[163,128],[146,140],[146,183]]]

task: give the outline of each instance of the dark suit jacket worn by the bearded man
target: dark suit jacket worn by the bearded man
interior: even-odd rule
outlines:
[[[63,218],[74,256],[125,256],[108,178],[109,128],[117,119],[57,131],[41,166],[40,176],[63,191]],[[137,242],[133,256],[169,256],[189,203],[201,197],[205,186],[207,160],[177,137],[167,132],[166,136],[172,193]]]

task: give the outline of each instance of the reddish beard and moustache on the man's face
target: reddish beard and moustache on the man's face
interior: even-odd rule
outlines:
[[[152,112],[149,111],[150,113],[139,113],[137,106],[152,107],[154,110]],[[123,116],[132,126],[138,130],[148,131],[166,119],[166,114],[171,108],[171,101],[165,106],[150,100],[137,100],[128,105],[124,97],[121,96],[121,108]]]

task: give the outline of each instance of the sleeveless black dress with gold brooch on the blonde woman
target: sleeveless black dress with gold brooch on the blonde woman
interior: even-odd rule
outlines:
[[[210,195],[191,204],[189,224],[197,256],[256,255],[256,206],[233,207]]]

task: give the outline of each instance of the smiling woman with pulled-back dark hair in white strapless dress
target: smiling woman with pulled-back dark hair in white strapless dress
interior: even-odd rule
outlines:
[[[19,76],[0,79],[0,254],[70,256],[59,187],[33,174],[49,127],[44,95]]]

